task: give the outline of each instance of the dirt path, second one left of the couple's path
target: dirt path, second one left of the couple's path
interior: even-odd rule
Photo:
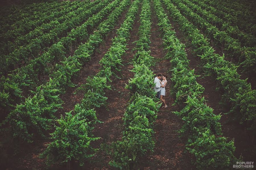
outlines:
[[[120,16],[115,25],[113,31],[111,31],[106,37],[106,41],[100,44],[100,46],[96,49],[96,53],[92,56],[91,60],[82,68],[79,77],[73,82],[77,84],[79,87],[81,84],[86,83],[86,78],[88,76],[96,75],[100,70],[99,61],[106,54],[110,46],[112,45],[112,38],[116,36],[116,29],[118,29],[123,21],[125,20],[125,16],[128,12],[129,7],[125,10]],[[75,104],[80,103],[84,94],[83,92],[78,92],[77,94],[73,94],[76,88],[68,88],[66,93],[61,96],[63,100],[63,109],[59,109],[55,115],[57,118],[60,118],[60,115],[65,115],[65,112],[69,112],[74,109]],[[98,116],[98,115],[97,115]],[[100,116],[99,116],[100,117]],[[53,129],[54,130],[54,129]],[[51,132],[53,132],[53,130]],[[50,133],[51,133],[50,132]],[[98,136],[98,135],[96,135]],[[49,137],[49,136],[48,136]],[[35,140],[34,143],[31,143],[27,146],[24,146],[20,154],[14,158],[12,164],[10,164],[7,168],[11,169],[46,169],[45,160],[39,158],[39,154],[42,153],[46,145],[50,142],[50,139],[38,139]],[[77,167],[77,165],[73,165]],[[50,169],[65,169],[66,165],[52,165]],[[83,167],[84,169],[84,167]]]

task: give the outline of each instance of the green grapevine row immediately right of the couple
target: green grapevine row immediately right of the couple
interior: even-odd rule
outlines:
[[[175,114],[185,121],[180,132],[189,134],[187,150],[195,155],[198,169],[228,169],[236,161],[234,141],[228,142],[226,137],[221,137],[220,115],[213,114],[213,109],[205,104],[204,88],[197,83],[194,70],[189,69],[185,45],[172,31],[159,0],[154,0],[154,8],[168,50],[166,58],[171,59],[172,94],[176,96],[176,105],[183,107]]]

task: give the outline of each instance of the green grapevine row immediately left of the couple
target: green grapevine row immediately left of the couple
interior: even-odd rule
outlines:
[[[122,141],[113,142],[106,149],[112,156],[110,165],[119,169],[133,169],[141,156],[154,148],[152,126],[160,105],[155,102],[155,93],[152,91],[153,74],[149,69],[152,63],[152,57],[149,55],[150,15],[149,1],[143,0],[139,40],[136,41],[135,48],[137,53],[133,59],[134,68],[131,70],[135,72],[135,76],[125,87],[132,94],[123,117],[125,131]]]

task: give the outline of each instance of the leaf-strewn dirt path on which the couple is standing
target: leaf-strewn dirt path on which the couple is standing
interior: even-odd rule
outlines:
[[[150,36],[150,50],[151,56],[155,58],[156,65],[151,67],[154,74],[162,73],[168,76],[168,84],[166,86],[166,109],[160,108],[157,120],[154,124],[155,131],[155,148],[154,152],[145,156],[141,165],[141,169],[154,170],[154,169],[173,169],[173,170],[186,170],[195,169],[191,160],[193,156],[185,152],[186,139],[179,138],[177,131],[183,125],[180,117],[172,113],[177,111],[177,106],[172,106],[174,98],[170,95],[171,88],[171,73],[169,72],[170,59],[164,59],[167,51],[164,50],[162,37],[160,35],[158,19],[151,3],[151,36]]]

